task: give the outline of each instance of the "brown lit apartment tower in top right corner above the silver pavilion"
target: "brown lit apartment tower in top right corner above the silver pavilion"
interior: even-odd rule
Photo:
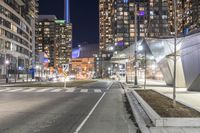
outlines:
[[[168,5],[170,30],[174,31],[173,1],[169,0]],[[177,23],[179,36],[196,32],[200,28],[200,1],[177,0]]]

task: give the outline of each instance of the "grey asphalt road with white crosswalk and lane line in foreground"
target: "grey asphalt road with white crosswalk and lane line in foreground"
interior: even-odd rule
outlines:
[[[118,83],[0,88],[0,133],[134,133]]]

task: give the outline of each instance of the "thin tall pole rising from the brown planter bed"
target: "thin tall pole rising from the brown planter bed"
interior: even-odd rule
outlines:
[[[177,43],[177,13],[176,13],[176,6],[177,1],[173,0],[174,2],[174,29],[175,29],[175,36],[174,36],[174,87],[173,87],[173,107],[176,107],[176,43]]]

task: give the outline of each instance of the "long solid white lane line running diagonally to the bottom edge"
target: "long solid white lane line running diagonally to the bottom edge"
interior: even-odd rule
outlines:
[[[100,99],[97,101],[97,103],[94,105],[94,107],[92,108],[92,110],[89,112],[89,114],[85,117],[85,119],[81,122],[81,124],[77,127],[77,129],[75,130],[74,133],[78,133],[81,128],[84,126],[84,124],[87,122],[87,120],[90,118],[90,116],[92,115],[92,113],[94,112],[94,110],[97,108],[97,106],[99,105],[99,103],[101,102],[101,100],[103,99],[103,97],[105,96],[105,92],[103,93],[103,95],[100,97]]]

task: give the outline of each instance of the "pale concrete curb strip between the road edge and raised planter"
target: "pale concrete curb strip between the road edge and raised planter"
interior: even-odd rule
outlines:
[[[151,133],[149,128],[147,127],[144,119],[142,118],[141,114],[139,113],[137,108],[135,108],[135,106],[133,104],[133,100],[131,99],[131,92],[128,92],[128,88],[127,88],[127,86],[125,84],[123,85],[121,83],[121,86],[122,86],[122,88],[124,88],[125,94],[126,94],[126,96],[128,98],[128,102],[129,102],[129,104],[131,106],[132,113],[133,113],[133,115],[135,117],[135,120],[136,120],[136,122],[138,124],[138,127],[139,127],[141,133]]]

